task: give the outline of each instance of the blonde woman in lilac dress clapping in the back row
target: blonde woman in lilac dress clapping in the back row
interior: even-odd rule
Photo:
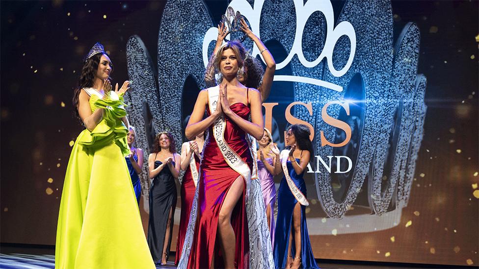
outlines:
[[[261,182],[261,190],[266,206],[266,217],[268,220],[269,235],[271,244],[274,244],[274,203],[276,202],[276,189],[273,176],[281,172],[279,149],[273,144],[271,133],[265,128],[263,138],[258,140],[258,179]]]

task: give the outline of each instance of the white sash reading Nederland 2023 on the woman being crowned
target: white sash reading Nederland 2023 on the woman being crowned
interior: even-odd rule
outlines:
[[[210,112],[213,114],[216,111],[216,103],[218,102],[219,86],[208,88],[208,105],[210,106]],[[225,115],[221,113],[213,122],[213,137],[218,145],[219,151],[223,155],[225,162],[233,169],[237,171],[244,179],[246,185],[246,197],[249,194],[249,187],[251,181],[251,170],[248,164],[246,164],[241,157],[226,143],[224,140],[224,132],[226,129]],[[251,149],[250,149],[251,150]]]

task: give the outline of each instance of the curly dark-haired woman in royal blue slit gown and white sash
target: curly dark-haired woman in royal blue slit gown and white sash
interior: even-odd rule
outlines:
[[[274,235],[276,269],[317,269],[306,225],[306,184],[303,174],[313,152],[311,132],[304,124],[292,125],[285,137],[289,149],[281,152],[283,179],[278,189],[278,217]],[[290,184],[288,184],[290,183]]]

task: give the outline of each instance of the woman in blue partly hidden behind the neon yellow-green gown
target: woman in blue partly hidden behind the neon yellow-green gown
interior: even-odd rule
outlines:
[[[141,197],[141,182],[140,174],[142,173],[143,166],[143,149],[134,147],[136,131],[133,126],[130,126],[130,130],[127,134],[127,142],[130,147],[130,155],[126,156],[128,171],[130,171],[130,177],[132,178],[133,191],[135,192],[136,202],[140,203]]]

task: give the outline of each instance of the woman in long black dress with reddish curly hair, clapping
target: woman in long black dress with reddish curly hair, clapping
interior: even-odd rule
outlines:
[[[150,219],[148,245],[155,263],[166,265],[170,252],[173,216],[176,207],[176,184],[180,172],[180,155],[173,136],[160,132],[155,137],[153,153],[148,157],[150,178]]]

